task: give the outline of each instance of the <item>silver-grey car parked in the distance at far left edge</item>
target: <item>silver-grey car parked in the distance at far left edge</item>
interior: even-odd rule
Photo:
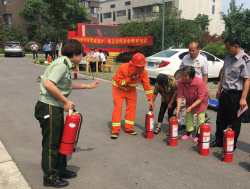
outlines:
[[[25,48],[21,46],[20,42],[10,41],[5,43],[4,56],[19,55],[25,56]]]

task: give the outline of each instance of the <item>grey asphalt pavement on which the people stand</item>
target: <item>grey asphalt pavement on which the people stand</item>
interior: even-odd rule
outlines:
[[[41,170],[42,136],[34,107],[40,91],[37,76],[45,67],[31,63],[30,58],[0,58],[0,141],[16,163],[24,181],[33,189],[44,188]],[[76,80],[89,84],[93,80]],[[145,139],[145,92],[137,90],[136,136],[122,130],[117,140],[110,139],[113,110],[112,84],[101,81],[96,89],[74,90],[69,99],[83,114],[78,147],[68,156],[68,169],[78,173],[67,188],[74,189],[180,189],[180,188],[250,188],[250,124],[243,123],[232,163],[221,161],[221,148],[210,149],[200,156],[193,138],[180,140],[177,147],[167,146],[167,122],[154,139]],[[155,126],[160,106],[156,100]],[[125,103],[124,103],[125,110]],[[211,141],[214,140],[216,112],[211,117]],[[195,133],[193,133],[195,135]],[[0,148],[1,149],[1,148]],[[0,151],[2,153],[2,151]],[[0,162],[1,165],[1,162]],[[14,169],[14,168],[13,168]],[[5,171],[5,172],[4,172]],[[1,169],[1,174],[11,174]],[[29,187],[27,185],[27,188]],[[0,188],[3,187],[0,179]],[[14,188],[14,187],[13,187]]]

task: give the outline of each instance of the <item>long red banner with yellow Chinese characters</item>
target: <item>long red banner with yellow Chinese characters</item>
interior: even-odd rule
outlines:
[[[114,46],[143,46],[153,45],[153,36],[141,37],[80,37],[72,36],[83,44],[114,45]]]

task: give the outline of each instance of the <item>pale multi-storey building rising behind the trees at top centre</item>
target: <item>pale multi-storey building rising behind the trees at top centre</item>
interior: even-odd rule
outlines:
[[[194,20],[198,14],[209,16],[211,34],[220,35],[225,30],[221,20],[222,0],[165,0],[165,4],[173,2],[182,11],[181,17]],[[99,23],[116,25],[139,19],[152,20],[159,14],[162,0],[101,0]]]

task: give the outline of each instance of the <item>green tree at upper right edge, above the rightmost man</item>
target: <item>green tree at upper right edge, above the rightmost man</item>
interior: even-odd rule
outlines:
[[[227,14],[222,12],[226,30],[222,36],[237,35],[242,41],[242,47],[250,50],[250,10],[243,9],[243,4],[236,6],[236,0],[231,0]]]

